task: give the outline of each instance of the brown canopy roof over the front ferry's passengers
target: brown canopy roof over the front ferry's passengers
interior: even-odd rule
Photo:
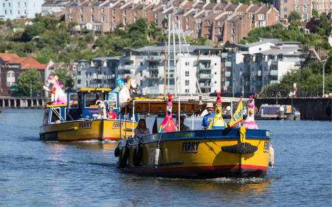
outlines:
[[[135,97],[133,99],[129,99],[129,101],[121,104],[120,113],[125,115],[127,113],[152,113],[159,114],[166,111],[166,103],[168,97],[164,99],[149,99],[144,97]],[[232,102],[239,102],[240,98],[221,98],[223,103],[222,107],[226,107],[230,105]],[[248,101],[249,99],[242,99],[242,101]],[[195,116],[201,115],[201,113],[205,110],[206,103],[215,103],[216,97],[202,97],[201,103],[199,96],[196,97],[174,97],[172,98],[173,108],[172,112],[178,113],[178,103],[180,103],[180,112],[181,114],[187,114],[187,116],[191,116],[194,114]]]

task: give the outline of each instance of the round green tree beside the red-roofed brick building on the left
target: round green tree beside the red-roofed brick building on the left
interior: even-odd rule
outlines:
[[[32,92],[41,92],[43,83],[39,82],[40,72],[36,68],[30,68],[29,70],[22,72],[17,79],[17,88],[20,92],[26,95],[30,94],[30,81]]]

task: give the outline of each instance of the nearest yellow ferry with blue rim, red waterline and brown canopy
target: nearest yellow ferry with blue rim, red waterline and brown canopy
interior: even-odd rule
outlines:
[[[195,97],[175,97],[173,112],[180,111],[192,117],[200,115],[211,100],[211,97],[203,101]],[[223,106],[239,99],[229,101],[223,99]],[[166,100],[133,99],[128,105],[131,110],[127,112],[160,113],[166,106]],[[165,132],[119,139],[115,156],[119,157],[120,168],[157,177],[265,177],[269,164],[271,167],[274,164],[270,141],[268,130],[252,130],[243,126]]]

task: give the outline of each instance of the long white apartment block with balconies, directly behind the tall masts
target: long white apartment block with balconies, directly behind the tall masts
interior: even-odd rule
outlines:
[[[126,53],[124,57],[99,57],[92,59],[91,63],[86,60],[78,61],[81,72],[80,86],[116,88],[118,86],[116,77],[125,81],[129,75],[136,79],[140,95],[163,95],[165,79],[166,84],[169,81],[169,92],[175,94],[175,77],[180,95],[198,94],[199,88],[205,94],[219,91],[221,88],[219,49],[181,44],[181,50],[188,48],[189,54],[187,52],[180,54],[179,48],[176,44],[175,67],[174,55],[170,56],[169,79],[168,72],[165,73],[165,43],[158,43],[157,46],[136,50],[122,49],[121,51]],[[167,66],[166,61],[166,68]]]

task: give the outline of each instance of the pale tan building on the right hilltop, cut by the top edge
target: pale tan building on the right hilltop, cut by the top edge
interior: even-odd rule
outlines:
[[[288,21],[291,12],[299,13],[302,21],[311,19],[313,5],[311,0],[274,0],[273,6],[279,11],[281,21]]]

